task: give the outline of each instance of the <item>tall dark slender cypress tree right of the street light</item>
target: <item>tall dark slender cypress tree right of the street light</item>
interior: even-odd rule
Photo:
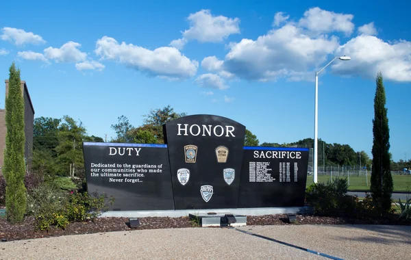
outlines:
[[[386,105],[386,94],[382,82],[382,73],[376,77],[377,89],[374,98],[373,119],[373,170],[371,172],[371,196],[375,205],[382,211],[391,208],[393,194],[393,177],[390,166],[390,129]]]

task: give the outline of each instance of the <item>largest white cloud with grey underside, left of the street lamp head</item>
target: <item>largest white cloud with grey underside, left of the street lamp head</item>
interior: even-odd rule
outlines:
[[[236,77],[271,81],[322,64],[338,46],[335,36],[310,38],[303,29],[287,24],[257,40],[231,44],[222,66]]]

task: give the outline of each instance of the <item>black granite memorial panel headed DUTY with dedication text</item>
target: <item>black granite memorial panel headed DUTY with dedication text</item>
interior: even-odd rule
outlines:
[[[110,210],[174,209],[164,144],[84,142],[88,192],[114,196]]]

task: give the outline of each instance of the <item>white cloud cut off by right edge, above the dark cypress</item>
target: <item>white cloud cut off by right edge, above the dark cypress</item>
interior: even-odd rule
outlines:
[[[360,35],[338,48],[336,55],[349,55],[352,60],[334,64],[334,73],[373,79],[381,71],[384,79],[411,81],[411,42],[406,40],[390,44]]]

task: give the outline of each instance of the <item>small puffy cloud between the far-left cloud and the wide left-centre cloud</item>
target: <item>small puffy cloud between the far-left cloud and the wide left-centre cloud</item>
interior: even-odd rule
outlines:
[[[60,48],[49,47],[45,49],[45,57],[55,62],[83,62],[87,58],[87,53],[80,51],[78,48],[82,44],[77,42],[66,42]]]

